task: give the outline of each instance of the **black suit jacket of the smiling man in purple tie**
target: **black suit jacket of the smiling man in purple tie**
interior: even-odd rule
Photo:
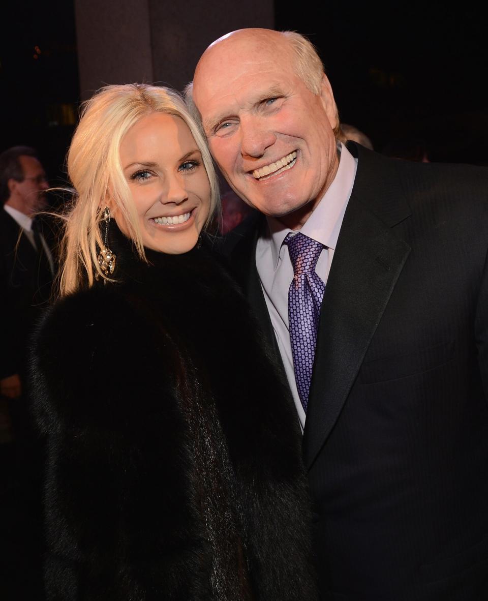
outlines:
[[[488,174],[350,150],[303,435],[322,598],[488,599]],[[226,251],[274,340],[253,219]]]

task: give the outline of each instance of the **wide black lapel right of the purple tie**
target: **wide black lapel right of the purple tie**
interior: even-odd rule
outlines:
[[[382,179],[375,162],[360,151],[323,299],[303,436],[307,468],[337,421],[410,252],[391,230],[409,216],[409,207],[396,183],[382,187],[387,176]]]

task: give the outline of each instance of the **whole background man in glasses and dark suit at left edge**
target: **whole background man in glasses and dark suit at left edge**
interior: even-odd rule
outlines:
[[[32,148],[16,146],[0,154],[0,399],[9,407],[17,457],[14,477],[3,474],[0,495],[5,599],[44,598],[38,481],[42,452],[25,388],[29,335],[49,299],[55,270],[49,239],[33,219],[44,208],[48,187]]]

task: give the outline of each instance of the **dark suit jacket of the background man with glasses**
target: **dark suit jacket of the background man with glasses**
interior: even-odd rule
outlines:
[[[19,231],[0,207],[0,378],[23,372],[26,344],[52,284],[46,257],[25,234],[19,240]]]

